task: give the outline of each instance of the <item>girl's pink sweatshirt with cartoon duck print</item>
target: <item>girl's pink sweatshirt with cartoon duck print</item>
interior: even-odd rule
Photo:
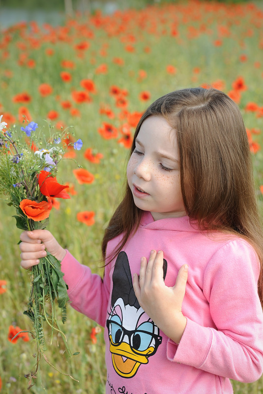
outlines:
[[[119,240],[108,243],[107,256]],[[151,249],[164,252],[167,286],[189,265],[179,345],[155,326],[133,291],[132,275]],[[187,216],[153,221],[145,212],[103,280],[69,252],[62,271],[71,305],[105,327],[107,394],[230,394],[229,379],[262,375],[259,262],[246,241],[218,232],[208,237]]]

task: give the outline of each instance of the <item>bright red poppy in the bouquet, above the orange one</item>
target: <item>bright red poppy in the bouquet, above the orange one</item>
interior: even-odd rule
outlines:
[[[64,190],[68,185],[58,183],[56,177],[52,177],[48,171],[41,171],[38,175],[38,184],[41,193],[48,197],[70,198]]]

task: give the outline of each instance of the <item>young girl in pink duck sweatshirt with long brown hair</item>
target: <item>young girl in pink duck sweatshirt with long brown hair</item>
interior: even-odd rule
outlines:
[[[47,230],[21,240],[22,267],[55,255],[71,305],[105,327],[107,394],[229,394],[229,379],[260,378],[263,236],[246,130],[223,92],[174,91],[142,116],[103,280]]]

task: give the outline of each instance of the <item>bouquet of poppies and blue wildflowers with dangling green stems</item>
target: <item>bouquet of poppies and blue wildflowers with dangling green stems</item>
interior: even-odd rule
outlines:
[[[44,229],[48,224],[52,210],[52,198],[70,198],[66,192],[67,185],[58,183],[56,173],[58,163],[68,145],[80,150],[82,141],[62,145],[68,139],[66,131],[57,135],[37,134],[37,123],[31,121],[21,130],[14,125],[6,129],[7,123],[0,116],[0,193],[4,194],[9,206],[16,210],[16,226],[22,230]],[[44,145],[45,144],[45,145]],[[45,148],[39,149],[39,147]],[[65,334],[59,326],[56,302],[61,312],[60,320],[66,321],[66,303],[68,302],[67,285],[63,280],[60,262],[47,252],[40,263],[32,267],[28,308],[24,314],[32,322],[30,332],[36,340],[36,369],[25,375],[36,377],[40,357],[52,365],[44,354],[47,349],[43,323],[51,327],[51,343],[55,333],[59,333],[64,341],[69,356]],[[76,353],[75,353],[76,354]],[[52,365],[55,367],[54,365]],[[55,368],[57,369],[57,368]],[[69,375],[70,376],[70,375]],[[72,377],[72,376],[71,376]]]

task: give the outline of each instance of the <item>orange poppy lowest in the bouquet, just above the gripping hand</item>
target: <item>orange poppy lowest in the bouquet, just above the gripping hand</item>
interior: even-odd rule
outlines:
[[[25,198],[21,201],[19,207],[25,213],[25,215],[34,221],[40,221],[49,217],[52,209],[52,204],[46,201],[31,201]]]

